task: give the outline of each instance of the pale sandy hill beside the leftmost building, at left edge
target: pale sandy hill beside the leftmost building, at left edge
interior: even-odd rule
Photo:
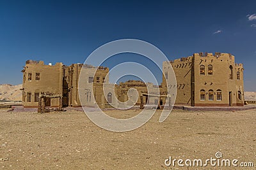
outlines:
[[[0,85],[0,101],[21,101],[22,85]]]

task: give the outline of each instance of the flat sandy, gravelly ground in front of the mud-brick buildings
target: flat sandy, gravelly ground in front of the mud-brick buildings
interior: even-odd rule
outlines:
[[[113,111],[125,118],[139,110]],[[167,167],[164,160],[222,159],[256,166],[256,110],[160,111],[131,132],[110,132],[81,111],[12,113],[0,110],[0,169],[256,169],[256,167]],[[239,164],[239,163],[238,163]]]

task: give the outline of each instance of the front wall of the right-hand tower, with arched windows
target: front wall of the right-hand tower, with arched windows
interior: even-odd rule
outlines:
[[[206,53],[195,57],[195,106],[243,106],[243,64],[236,64],[234,55],[229,53]],[[200,66],[205,66],[205,74],[200,74]],[[212,74],[209,67],[212,66]],[[241,71],[237,80],[236,70]],[[200,99],[200,90],[205,90],[205,100]],[[213,100],[210,100],[210,90]],[[238,92],[241,99],[238,99]],[[217,96],[221,92],[221,99]]]

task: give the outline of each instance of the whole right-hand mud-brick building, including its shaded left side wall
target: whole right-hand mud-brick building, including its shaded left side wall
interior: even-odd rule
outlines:
[[[177,105],[243,106],[243,64],[229,53],[195,53],[170,61],[177,79]],[[163,72],[168,73],[164,68]],[[163,81],[163,89],[166,83]]]

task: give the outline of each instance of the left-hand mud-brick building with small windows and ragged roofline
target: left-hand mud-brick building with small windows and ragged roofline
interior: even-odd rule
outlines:
[[[65,66],[61,62],[44,64],[43,61],[26,61],[26,66],[22,69],[22,105],[24,108],[38,107],[41,96],[45,97],[45,106],[58,108],[63,106],[81,106],[78,94],[79,74],[83,64],[72,64]],[[88,91],[88,101],[92,101],[95,96],[101,102],[102,83],[108,82],[108,67],[84,66],[88,70],[88,83],[93,83],[93,92]],[[95,76],[93,71],[96,70]],[[101,89],[101,90],[100,90]],[[92,90],[91,90],[92,91]],[[57,96],[57,97],[56,97]],[[60,96],[60,97],[59,97]]]

